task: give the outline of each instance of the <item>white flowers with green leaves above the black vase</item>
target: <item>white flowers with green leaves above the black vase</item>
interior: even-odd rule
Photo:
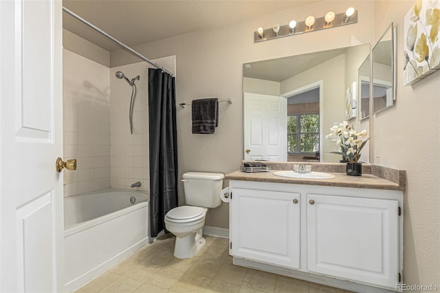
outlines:
[[[364,148],[366,140],[360,138],[366,137],[366,130],[361,132],[355,131],[347,121],[343,121],[339,125],[335,125],[330,129],[331,133],[326,136],[332,142],[336,142],[339,146],[339,151],[331,151],[330,153],[337,153],[342,155],[342,158],[350,163],[357,163],[360,159],[360,151]]]

